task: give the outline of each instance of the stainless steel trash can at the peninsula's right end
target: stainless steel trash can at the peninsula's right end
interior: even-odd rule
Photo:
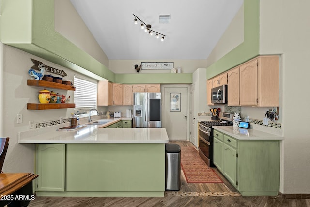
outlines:
[[[180,190],[180,175],[181,148],[178,144],[166,144],[166,190]]]

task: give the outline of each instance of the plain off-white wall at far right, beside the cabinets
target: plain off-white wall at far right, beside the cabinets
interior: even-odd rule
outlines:
[[[310,193],[310,1],[260,1],[260,53],[283,54],[281,186],[284,194]]]

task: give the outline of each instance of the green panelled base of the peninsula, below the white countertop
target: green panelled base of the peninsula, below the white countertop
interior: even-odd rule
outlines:
[[[37,196],[163,197],[165,143],[38,144]]]

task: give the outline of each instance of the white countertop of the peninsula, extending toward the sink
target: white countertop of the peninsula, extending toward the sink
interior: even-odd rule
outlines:
[[[116,121],[114,118],[112,122]],[[169,141],[165,128],[99,128],[103,126],[86,125],[76,131],[57,131],[55,127],[29,130],[19,132],[18,143],[168,143]]]

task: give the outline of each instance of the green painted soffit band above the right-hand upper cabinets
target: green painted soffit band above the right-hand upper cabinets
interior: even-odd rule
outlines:
[[[259,55],[259,8],[259,0],[244,0],[244,41],[207,68],[207,79]]]

